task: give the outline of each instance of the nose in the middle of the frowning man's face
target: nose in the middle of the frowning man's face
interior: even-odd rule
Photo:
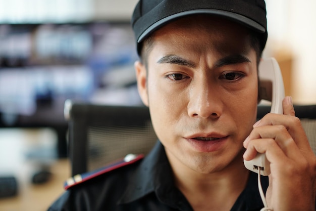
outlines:
[[[218,118],[222,115],[223,102],[216,83],[203,80],[190,90],[188,114],[192,117]]]

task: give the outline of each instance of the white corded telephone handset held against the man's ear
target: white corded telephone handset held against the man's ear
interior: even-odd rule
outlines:
[[[276,59],[263,59],[259,64],[259,89],[261,99],[271,101],[271,113],[283,114],[282,101],[285,97],[283,78]],[[244,160],[246,168],[255,173],[270,175],[270,163],[265,154],[258,153],[252,160]]]

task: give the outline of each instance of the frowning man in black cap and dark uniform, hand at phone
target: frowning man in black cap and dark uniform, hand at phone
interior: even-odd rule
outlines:
[[[316,159],[291,98],[255,123],[264,1],[140,1],[138,89],[160,142],[144,159],[72,185],[49,210],[315,210]],[[245,150],[245,148],[246,150]],[[243,158],[266,153],[262,177]]]

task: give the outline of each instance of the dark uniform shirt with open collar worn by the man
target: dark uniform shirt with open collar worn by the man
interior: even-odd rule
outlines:
[[[119,165],[110,166],[84,182],[71,184],[48,210],[193,211],[174,184],[171,166],[160,142],[144,159]],[[266,191],[268,177],[261,177],[261,183]],[[251,172],[231,211],[259,211],[262,207],[257,174]]]

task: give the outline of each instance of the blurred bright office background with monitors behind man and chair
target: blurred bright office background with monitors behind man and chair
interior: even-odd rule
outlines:
[[[141,105],[130,27],[136,2],[0,0],[0,210],[45,210],[63,191],[32,178],[47,166],[61,181],[69,176],[66,99]],[[264,57],[278,60],[295,104],[315,104],[316,1],[266,4]],[[2,176],[18,178],[11,197],[1,197]]]

